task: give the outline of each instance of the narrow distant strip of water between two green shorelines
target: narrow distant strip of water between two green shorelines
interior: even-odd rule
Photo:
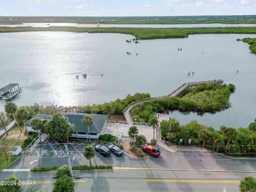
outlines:
[[[49,27],[49,26],[61,26],[61,27],[97,27],[96,24],[77,24],[77,23],[23,23],[23,25],[1,25],[0,27]],[[149,27],[149,28],[173,28],[173,27],[256,27],[256,24],[174,24],[174,25],[132,25],[132,24],[100,24],[99,27]]]

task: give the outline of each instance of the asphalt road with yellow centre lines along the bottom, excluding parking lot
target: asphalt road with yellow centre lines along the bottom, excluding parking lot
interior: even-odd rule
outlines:
[[[238,185],[247,173],[159,171],[159,170],[110,170],[74,171],[78,192],[82,191],[239,191]],[[252,174],[254,177],[256,174]],[[37,191],[51,191],[55,172],[1,172],[6,177],[37,181]]]

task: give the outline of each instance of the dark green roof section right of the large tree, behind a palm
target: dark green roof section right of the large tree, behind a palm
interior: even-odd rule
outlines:
[[[96,115],[96,114],[86,114],[90,115],[92,117],[93,124],[90,125],[90,133],[100,133],[105,122],[107,121],[108,116],[107,115]],[[79,133],[87,133],[87,126],[84,126],[82,124],[82,119],[84,117],[84,114],[66,114],[65,115],[68,118],[69,123],[75,125],[75,132]]]

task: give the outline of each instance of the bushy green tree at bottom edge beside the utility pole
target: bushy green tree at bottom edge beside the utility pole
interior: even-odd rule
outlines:
[[[67,165],[63,165],[57,169],[56,177],[57,179],[53,184],[53,192],[74,191],[74,183],[70,177],[70,172]]]

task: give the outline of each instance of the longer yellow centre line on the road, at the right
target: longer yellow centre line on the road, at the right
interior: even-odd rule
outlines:
[[[145,182],[193,182],[193,183],[240,183],[228,180],[179,180],[179,179],[145,179]]]

